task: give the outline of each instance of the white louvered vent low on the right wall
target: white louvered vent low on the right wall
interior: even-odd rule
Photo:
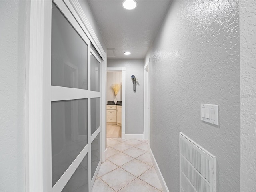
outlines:
[[[180,192],[216,192],[216,157],[182,132]]]

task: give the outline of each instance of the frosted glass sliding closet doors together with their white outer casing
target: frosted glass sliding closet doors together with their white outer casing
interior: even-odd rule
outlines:
[[[106,54],[78,1],[30,8],[26,190],[90,192],[105,148]]]

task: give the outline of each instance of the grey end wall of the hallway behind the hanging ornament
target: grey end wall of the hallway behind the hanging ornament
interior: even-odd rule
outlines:
[[[108,59],[107,67],[125,67],[125,134],[143,134],[143,67],[144,60]],[[131,76],[135,75],[140,85],[133,92]],[[122,104],[123,105],[123,104]]]

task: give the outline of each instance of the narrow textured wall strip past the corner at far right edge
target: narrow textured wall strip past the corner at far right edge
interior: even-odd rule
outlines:
[[[256,191],[256,1],[239,1],[241,157],[240,191]]]

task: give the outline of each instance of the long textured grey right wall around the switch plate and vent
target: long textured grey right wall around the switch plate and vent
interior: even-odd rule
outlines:
[[[216,156],[217,191],[240,190],[238,0],[175,0],[151,57],[150,146],[170,191],[179,191],[179,132]],[[200,120],[218,104],[219,126]]]

